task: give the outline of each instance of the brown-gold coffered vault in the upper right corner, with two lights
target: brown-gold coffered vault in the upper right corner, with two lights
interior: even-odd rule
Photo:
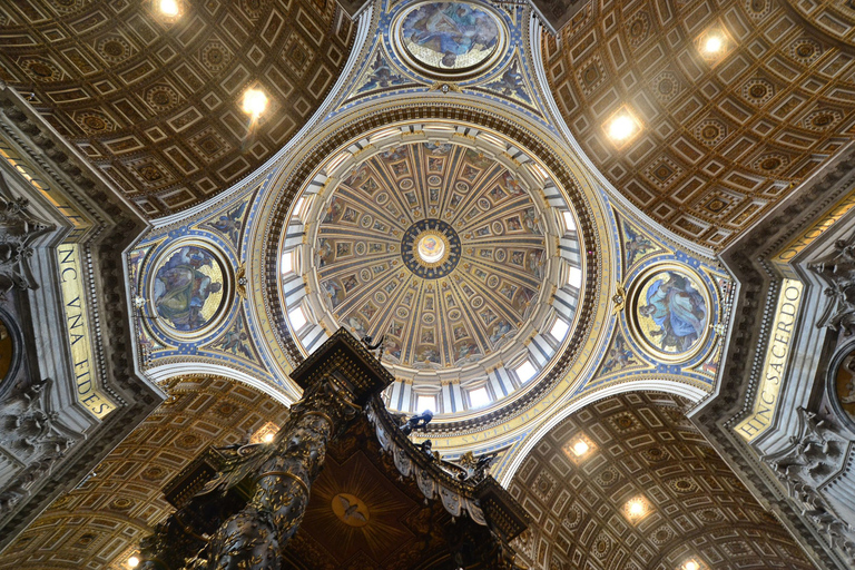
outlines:
[[[831,3],[805,10],[819,21]],[[705,60],[698,41],[717,28],[733,41]],[[852,139],[853,58],[778,0],[594,1],[543,39],[550,88],[594,166],[653,219],[716,249]],[[617,149],[603,126],[623,105],[642,131]]]

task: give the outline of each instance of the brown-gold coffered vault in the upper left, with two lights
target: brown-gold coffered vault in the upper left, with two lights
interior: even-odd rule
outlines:
[[[351,21],[333,1],[0,3],[0,77],[148,216],[187,208],[252,174],[337,79]],[[267,92],[255,126],[248,87]]]

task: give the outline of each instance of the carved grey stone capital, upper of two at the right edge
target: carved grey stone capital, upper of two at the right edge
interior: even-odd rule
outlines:
[[[826,283],[828,304],[816,323],[833,331],[855,332],[855,235],[834,243],[834,250],[807,266]]]

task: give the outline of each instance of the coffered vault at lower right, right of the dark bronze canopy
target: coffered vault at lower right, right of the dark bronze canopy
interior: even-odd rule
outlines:
[[[515,548],[532,569],[808,570],[814,566],[686,419],[655,393],[601,400],[553,428],[509,491],[532,525]],[[577,456],[580,439],[590,451]],[[643,498],[647,514],[627,517]]]

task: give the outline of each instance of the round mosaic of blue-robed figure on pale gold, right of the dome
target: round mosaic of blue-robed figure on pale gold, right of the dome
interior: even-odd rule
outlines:
[[[711,303],[694,272],[679,265],[655,266],[637,279],[630,298],[632,332],[655,356],[684,361],[700,350]]]

